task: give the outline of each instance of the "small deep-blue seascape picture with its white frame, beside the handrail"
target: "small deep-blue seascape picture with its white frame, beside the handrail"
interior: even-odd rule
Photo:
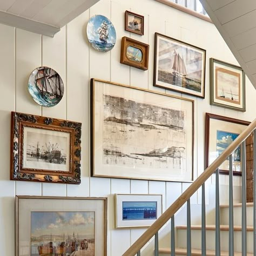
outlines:
[[[151,226],[162,214],[161,194],[116,194],[116,227]]]

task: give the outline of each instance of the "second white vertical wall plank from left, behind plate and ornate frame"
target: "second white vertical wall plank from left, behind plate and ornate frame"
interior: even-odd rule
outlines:
[[[29,44],[28,44],[29,42]],[[39,106],[30,96],[30,73],[41,65],[41,36],[16,29],[16,105],[17,112],[41,115]],[[16,181],[16,194],[41,195],[41,183]]]

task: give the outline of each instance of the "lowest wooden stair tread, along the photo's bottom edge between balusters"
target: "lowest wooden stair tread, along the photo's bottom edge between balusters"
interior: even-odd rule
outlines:
[[[171,249],[170,248],[159,248],[159,253],[171,253]],[[186,248],[175,248],[175,253],[176,254],[180,254],[180,255],[187,255],[187,250]],[[196,255],[201,255],[201,250],[199,249],[192,249],[191,250],[191,255],[192,256],[196,256]],[[206,255],[208,256],[215,256],[215,251],[212,250],[206,250]],[[227,251],[221,251],[220,252],[221,256],[228,256],[228,252]],[[242,255],[241,252],[234,252],[234,256],[240,256]],[[246,255],[251,255],[253,256],[253,253],[247,253]]]

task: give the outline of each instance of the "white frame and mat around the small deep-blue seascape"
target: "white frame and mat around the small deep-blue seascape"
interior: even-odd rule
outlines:
[[[160,217],[163,213],[163,196],[161,194],[116,194],[116,228],[122,227],[149,227],[156,219],[135,219],[124,220],[123,219],[123,202],[151,202],[157,203],[157,216]]]

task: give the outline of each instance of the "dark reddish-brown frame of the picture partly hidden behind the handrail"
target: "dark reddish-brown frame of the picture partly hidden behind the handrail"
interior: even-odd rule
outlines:
[[[231,117],[219,116],[218,114],[206,113],[205,114],[205,169],[208,167],[208,154],[209,154],[209,140],[210,140],[210,119],[217,119],[224,122],[230,122],[234,124],[249,125],[250,122],[235,119]],[[228,170],[219,170],[220,173],[229,174]],[[241,172],[233,171],[234,175],[241,176]]]

